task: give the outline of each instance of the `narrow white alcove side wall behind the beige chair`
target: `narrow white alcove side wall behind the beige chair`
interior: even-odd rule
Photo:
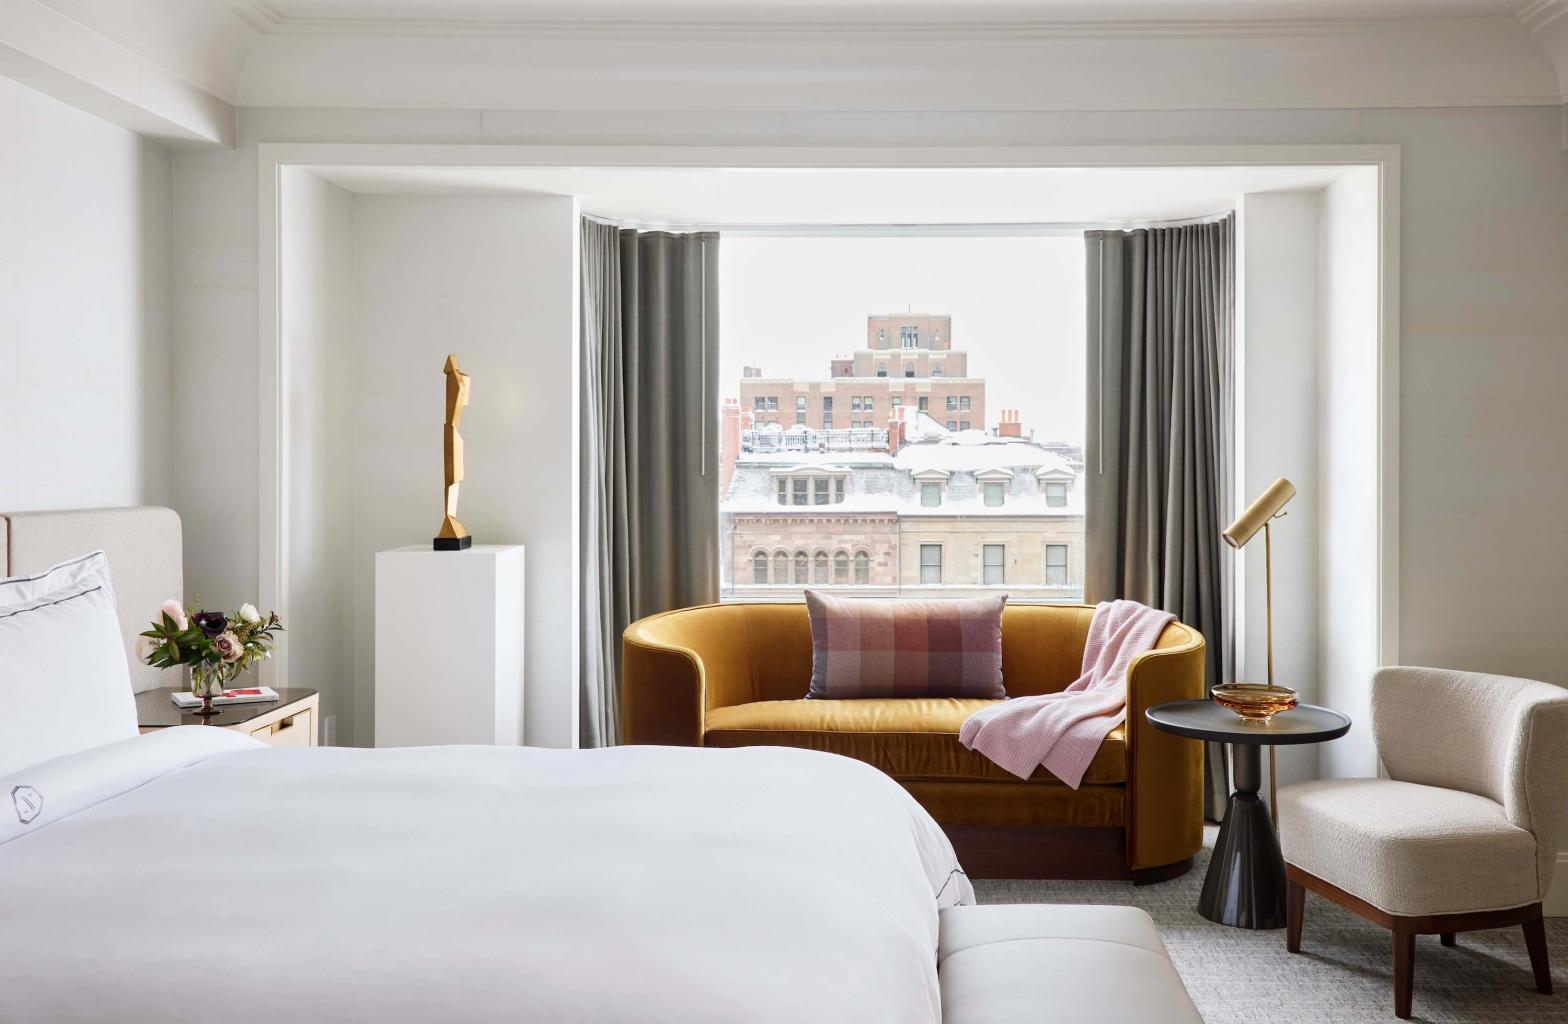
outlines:
[[[1317,351],[1317,458],[1316,500],[1319,519],[1317,618],[1319,698],[1355,721],[1350,732],[1317,748],[1317,768],[1327,778],[1377,773],[1367,681],[1378,665],[1378,358],[1380,306],[1377,171],[1358,169],[1322,193],[1319,209],[1319,351]],[[1455,386],[1469,389],[1479,381]],[[1424,438],[1405,438],[1405,450],[1419,450]],[[1301,503],[1301,502],[1298,502]],[[1416,525],[1421,510],[1408,508],[1402,521]],[[1430,560],[1432,554],[1421,558]],[[1417,572],[1428,566],[1406,566]],[[1408,597],[1402,590],[1402,601]],[[1457,615],[1463,615],[1455,608]],[[1416,648],[1430,641],[1413,635]],[[1410,648],[1403,657],[1413,655]],[[1568,682],[1568,679],[1563,679]]]

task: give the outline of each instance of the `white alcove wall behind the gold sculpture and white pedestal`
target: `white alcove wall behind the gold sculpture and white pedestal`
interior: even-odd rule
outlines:
[[[375,721],[375,552],[441,527],[447,353],[472,379],[458,517],[477,543],[527,546],[527,742],[577,742],[577,238],[569,198],[356,198],[359,743]]]

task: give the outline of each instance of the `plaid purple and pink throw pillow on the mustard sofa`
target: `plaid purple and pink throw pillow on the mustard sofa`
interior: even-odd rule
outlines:
[[[829,597],[806,591],[814,698],[1004,698],[1007,596],[950,601]]]

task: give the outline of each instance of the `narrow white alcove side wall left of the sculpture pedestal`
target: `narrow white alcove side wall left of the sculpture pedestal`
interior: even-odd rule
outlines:
[[[325,742],[354,735],[354,198],[282,174],[279,290],[289,353],[289,684],[321,692]]]

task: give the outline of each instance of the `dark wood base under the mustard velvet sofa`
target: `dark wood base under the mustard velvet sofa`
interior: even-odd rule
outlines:
[[[1055,878],[1149,884],[1181,878],[1192,858],[1127,867],[1123,828],[1079,825],[942,825],[971,878]]]

